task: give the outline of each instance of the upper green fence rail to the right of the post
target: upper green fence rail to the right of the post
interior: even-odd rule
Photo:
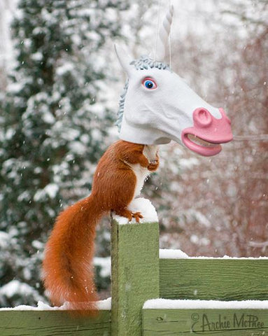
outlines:
[[[160,259],[160,297],[268,300],[268,260]]]

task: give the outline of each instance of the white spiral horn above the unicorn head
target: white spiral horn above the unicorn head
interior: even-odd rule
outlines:
[[[164,17],[162,27],[159,31],[160,43],[157,45],[157,55],[155,58],[158,61],[164,61],[164,58],[169,54],[169,34],[174,13],[174,6],[169,7],[167,15]]]

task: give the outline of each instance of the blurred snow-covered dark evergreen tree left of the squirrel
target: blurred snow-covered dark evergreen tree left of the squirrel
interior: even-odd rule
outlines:
[[[127,3],[19,3],[13,22],[17,66],[0,106],[4,306],[40,298],[39,251],[55,216],[67,201],[89,193],[91,177],[86,184],[85,178],[92,176],[115,118],[98,96],[108,65],[97,52],[107,38],[120,36],[117,15]]]

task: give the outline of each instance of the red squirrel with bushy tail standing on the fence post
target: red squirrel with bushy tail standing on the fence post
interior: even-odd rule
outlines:
[[[142,214],[127,209],[144,180],[159,165],[157,146],[119,140],[99,160],[89,197],[57,217],[45,246],[43,282],[55,306],[92,311],[97,301],[92,259],[95,228],[110,211],[139,222]]]

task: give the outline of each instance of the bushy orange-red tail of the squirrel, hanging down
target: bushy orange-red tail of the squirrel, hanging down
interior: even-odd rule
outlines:
[[[95,228],[103,213],[94,197],[59,214],[43,260],[43,281],[52,304],[90,314],[97,301],[92,259]]]

